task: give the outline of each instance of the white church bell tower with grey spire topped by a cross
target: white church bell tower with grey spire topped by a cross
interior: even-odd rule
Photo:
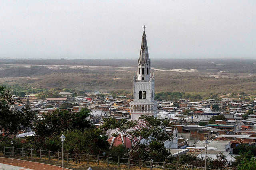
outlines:
[[[131,119],[136,120],[140,115],[154,115],[157,113],[157,101],[154,100],[155,80],[154,72],[151,74],[151,62],[148,55],[148,44],[145,25],[140,47],[137,71],[133,76],[133,98],[130,103]]]

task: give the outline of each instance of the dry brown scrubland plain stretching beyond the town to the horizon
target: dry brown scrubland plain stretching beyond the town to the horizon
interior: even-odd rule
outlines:
[[[252,60],[152,60],[152,67],[161,68],[161,71],[155,70],[156,92],[243,91],[256,94],[254,62]],[[19,84],[28,88],[132,92],[132,76],[133,71],[136,70],[136,63],[136,60],[0,60],[0,84]],[[182,72],[166,71],[170,69],[180,69]],[[186,72],[189,69],[194,69],[194,72]]]

